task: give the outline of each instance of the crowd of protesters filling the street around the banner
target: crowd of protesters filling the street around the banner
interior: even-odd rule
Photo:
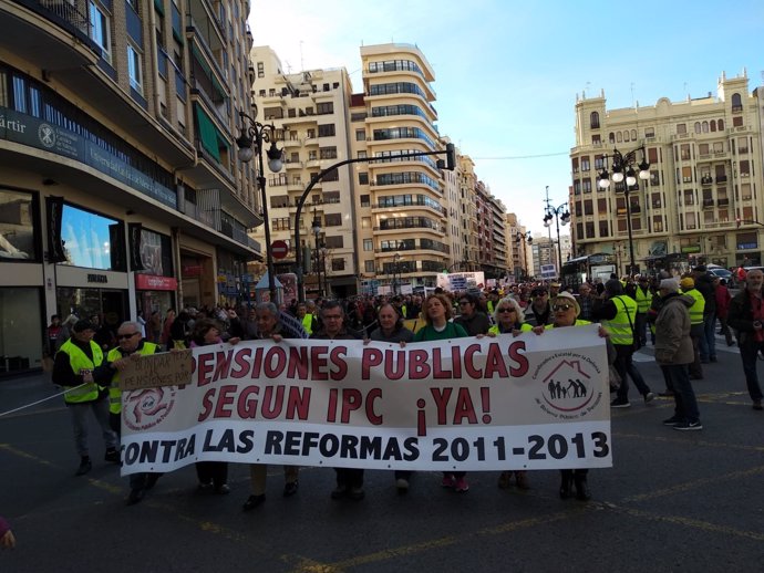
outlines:
[[[185,308],[179,312],[171,309],[165,316],[153,312],[145,320],[140,315],[135,321],[123,323],[112,340],[99,338],[102,329],[96,317],[72,323],[54,316],[48,344],[50,354],[56,355],[53,381],[64,387],[87,384],[90,392],[82,399],[68,402],[76,414],[73,418],[76,420],[75,442],[82,457],[78,475],[91,468],[87,436],[82,429],[90,408],[101,420],[105,460],[116,461],[114,448],[118,430],[112,427],[110,433],[105,413],[110,381],[113,383],[118,376],[121,360],[134,353],[261,338],[278,344],[283,338],[309,336],[394,342],[404,346],[467,336],[541,334],[555,327],[600,323],[600,333],[607,338],[611,376],[616,378],[615,384],[611,381],[615,390],[611,407],[631,406],[629,379],[646,405],[654,399],[655,394],[632,360],[636,351],[649,344],[653,346],[665,383],[660,394],[674,399],[674,415],[663,424],[678,430],[699,430],[702,425],[690,381],[703,378],[703,367],[716,362],[716,321],[727,345],[735,344],[735,332],[753,407],[762,409],[756,356],[764,350],[764,280],[761,271],[751,271],[740,280],[744,289],[734,299],[723,279],[714,278],[704,267],[696,267],[681,278],[663,274],[619,279],[612,275],[609,280],[598,279],[569,288],[556,282],[527,282],[484,291],[452,293],[436,289],[426,298],[421,294],[358,295],[342,301],[292,301],[282,308],[266,302]],[[82,371],[84,374],[72,372],[72,356],[80,356],[78,360],[83,364],[92,363],[92,367]],[[106,402],[102,404],[101,400]],[[245,511],[265,501],[266,470],[264,465],[251,466],[251,493],[244,503]],[[333,499],[360,500],[364,497],[363,469],[338,468],[335,472]],[[227,473],[227,463],[198,463],[199,491],[228,493]],[[142,475],[141,479],[131,480],[128,503],[140,502],[158,476]],[[285,497],[297,493],[298,476],[298,468],[285,468]],[[561,476],[561,498],[574,494],[580,500],[590,498],[586,470],[565,470]],[[399,492],[409,490],[411,477],[409,471],[394,472]],[[519,489],[530,488],[527,472],[502,472],[498,487],[506,489],[513,485]],[[444,473],[442,486],[457,492],[469,489],[464,471]]]

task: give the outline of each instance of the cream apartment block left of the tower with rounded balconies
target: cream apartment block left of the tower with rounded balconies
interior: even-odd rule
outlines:
[[[256,69],[257,119],[276,126],[277,145],[285,157],[280,173],[266,171],[271,240],[289,246],[287,257],[275,261],[276,272],[295,270],[299,225],[307,296],[354,294],[359,286],[353,186],[358,171],[347,165],[318,179],[323,169],[351,158],[350,137],[357,134],[351,134],[348,72],[287,73],[268,46],[254,48],[250,59]],[[296,221],[298,201],[311,181],[300,221]],[[255,237],[264,241],[264,230],[256,229]]]

